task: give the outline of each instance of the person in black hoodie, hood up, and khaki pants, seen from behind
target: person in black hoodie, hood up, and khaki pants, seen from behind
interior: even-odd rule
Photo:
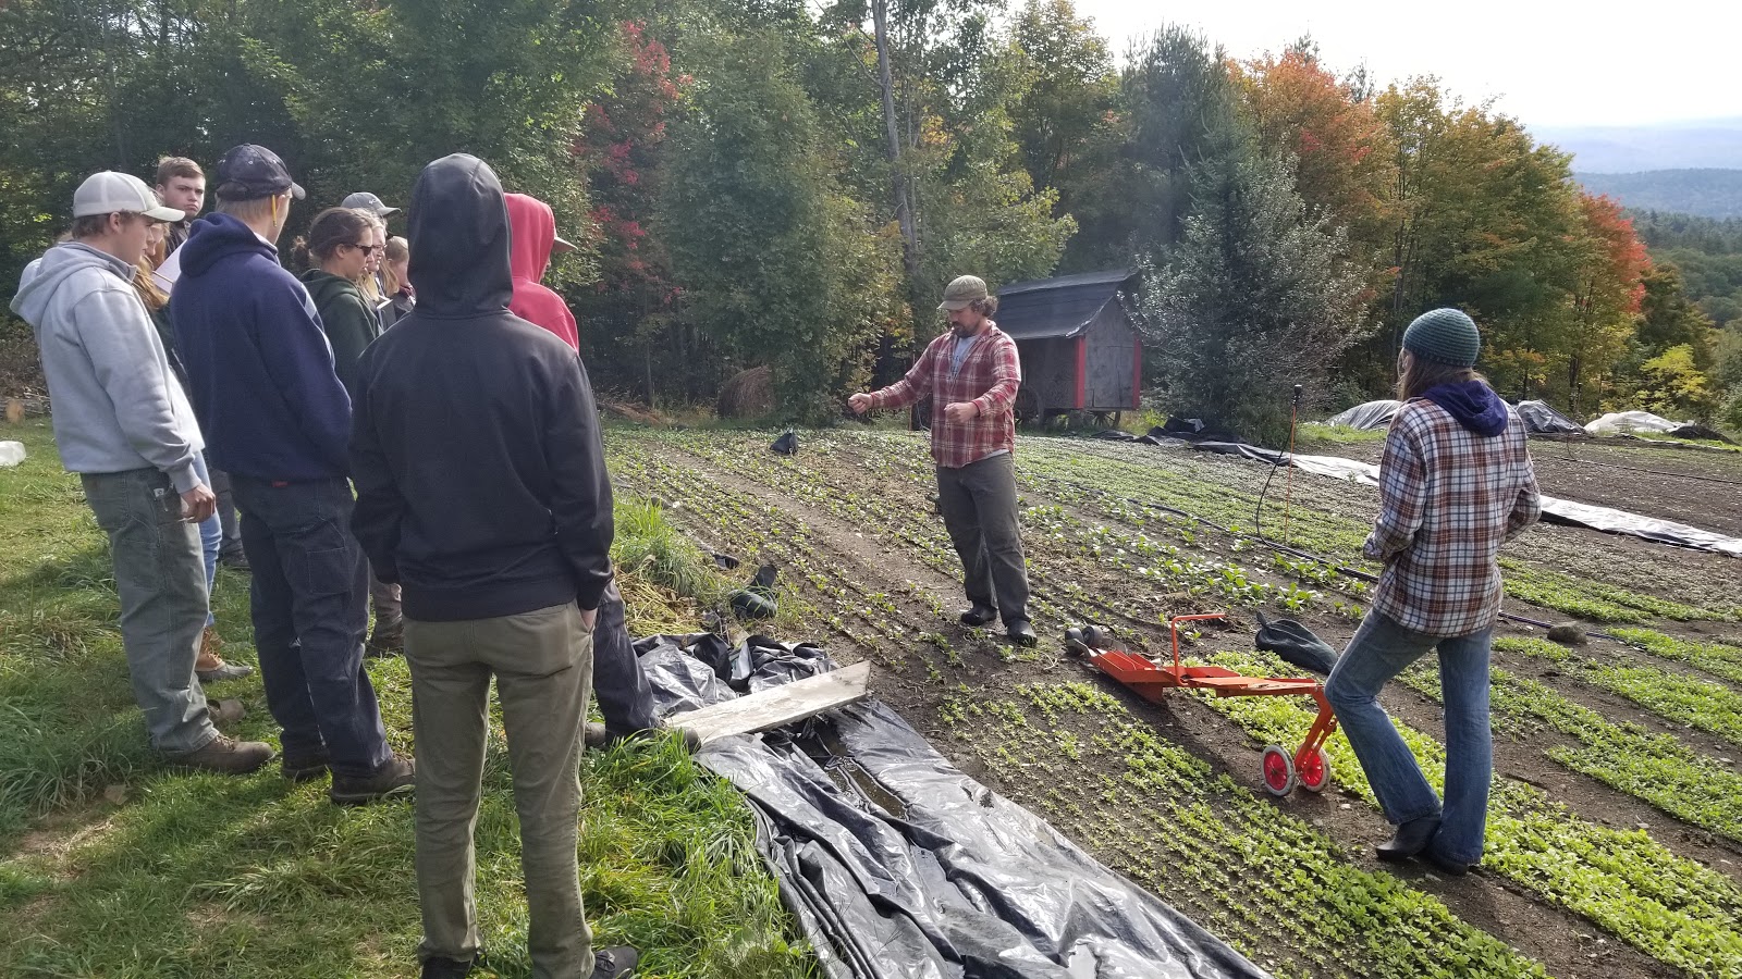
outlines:
[[[638,956],[594,955],[575,857],[611,484],[580,357],[509,312],[509,237],[488,164],[455,153],[423,169],[411,197],[418,305],[357,366],[352,530],[404,598],[423,976],[465,976],[483,953],[472,826],[495,678],[533,976],[617,979]]]

